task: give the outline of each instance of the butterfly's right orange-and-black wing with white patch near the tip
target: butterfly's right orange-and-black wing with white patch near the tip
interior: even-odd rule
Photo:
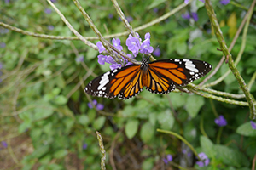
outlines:
[[[148,64],[146,88],[154,94],[167,94],[177,86],[203,77],[212,70],[212,65],[197,59],[163,59]]]

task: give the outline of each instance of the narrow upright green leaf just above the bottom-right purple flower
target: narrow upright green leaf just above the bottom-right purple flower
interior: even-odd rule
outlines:
[[[210,139],[205,136],[200,137],[200,144],[203,152],[207,154],[208,157],[214,158],[216,156],[216,151],[214,150],[214,145]]]

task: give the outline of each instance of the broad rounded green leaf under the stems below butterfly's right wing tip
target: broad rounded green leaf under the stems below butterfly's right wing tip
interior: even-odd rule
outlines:
[[[205,100],[203,97],[195,94],[189,95],[187,103],[185,105],[186,111],[188,111],[189,116],[193,118],[197,116],[198,112],[201,109],[201,106],[203,106],[204,104]]]

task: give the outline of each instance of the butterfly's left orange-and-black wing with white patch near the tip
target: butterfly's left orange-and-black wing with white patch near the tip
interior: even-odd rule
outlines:
[[[143,90],[141,65],[128,65],[108,71],[84,88],[87,94],[113,99],[130,99]]]

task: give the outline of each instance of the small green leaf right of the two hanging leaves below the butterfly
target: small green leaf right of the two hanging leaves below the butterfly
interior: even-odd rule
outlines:
[[[174,117],[172,116],[172,112],[169,109],[161,112],[157,118],[162,129],[165,129],[165,130],[172,129],[174,124]]]

